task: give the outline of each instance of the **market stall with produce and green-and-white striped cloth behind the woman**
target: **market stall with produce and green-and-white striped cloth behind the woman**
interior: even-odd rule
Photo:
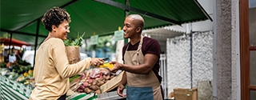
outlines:
[[[11,66],[14,66],[14,64],[11,64]],[[19,66],[20,69],[0,68],[0,98],[2,99],[28,99],[30,98],[31,91],[34,89],[33,70],[28,70],[30,65],[16,66]],[[25,67],[26,69],[24,69]],[[91,68],[76,78],[70,78],[70,90],[67,93],[66,99],[121,99],[122,97],[119,97],[115,90],[121,78],[121,71],[110,74],[105,66]],[[82,84],[79,85],[78,83]],[[77,88],[74,89],[74,86]]]

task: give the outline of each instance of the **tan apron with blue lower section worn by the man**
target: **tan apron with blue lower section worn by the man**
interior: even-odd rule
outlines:
[[[139,65],[144,62],[142,54],[143,37],[138,45],[138,50],[127,51],[124,61],[127,65]],[[126,100],[162,100],[161,85],[153,70],[150,74],[133,74],[126,71],[127,88]]]

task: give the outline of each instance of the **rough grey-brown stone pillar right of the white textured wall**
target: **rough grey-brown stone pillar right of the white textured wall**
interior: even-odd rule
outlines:
[[[214,18],[214,97],[218,100],[231,99],[232,86],[232,26],[231,0],[215,1]]]

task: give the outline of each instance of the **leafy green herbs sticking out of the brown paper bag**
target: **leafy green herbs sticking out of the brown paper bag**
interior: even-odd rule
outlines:
[[[86,33],[83,33],[82,36],[79,36],[78,34],[78,38],[76,38],[75,40],[72,40],[72,39],[63,40],[64,45],[65,46],[82,46],[82,40],[83,40],[82,37],[84,34]]]

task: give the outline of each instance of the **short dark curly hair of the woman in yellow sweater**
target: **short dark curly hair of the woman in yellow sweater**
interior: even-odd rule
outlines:
[[[55,25],[58,27],[63,21],[71,22],[70,14],[68,14],[66,10],[55,6],[47,10],[42,17],[42,24],[45,26],[46,30],[49,31],[52,30],[51,26]]]

